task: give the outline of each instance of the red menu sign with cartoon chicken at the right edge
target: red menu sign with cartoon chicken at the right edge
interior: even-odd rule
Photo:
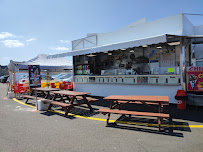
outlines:
[[[203,67],[187,67],[187,90],[203,92]]]

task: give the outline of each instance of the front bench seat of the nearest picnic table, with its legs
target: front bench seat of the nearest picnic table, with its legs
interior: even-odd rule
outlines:
[[[147,117],[157,117],[158,119],[158,125],[159,125],[159,131],[161,130],[161,120],[163,118],[169,119],[169,114],[163,114],[163,113],[151,113],[151,112],[137,112],[137,111],[125,111],[125,110],[114,110],[114,109],[100,109],[98,112],[102,114],[108,114],[107,117],[107,124],[109,123],[110,114],[124,114],[124,115],[135,115],[135,116],[147,116]]]

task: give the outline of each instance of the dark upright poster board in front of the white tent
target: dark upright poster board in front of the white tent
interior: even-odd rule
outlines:
[[[40,66],[28,65],[30,88],[41,87]]]

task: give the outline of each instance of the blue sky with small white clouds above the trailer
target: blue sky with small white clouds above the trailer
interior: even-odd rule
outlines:
[[[203,0],[0,0],[0,65],[71,51],[86,33],[120,29],[141,18],[203,14]],[[189,16],[194,24],[203,16]]]

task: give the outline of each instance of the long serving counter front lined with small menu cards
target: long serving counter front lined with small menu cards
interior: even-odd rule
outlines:
[[[74,77],[75,83],[180,85],[180,75],[109,75]]]

